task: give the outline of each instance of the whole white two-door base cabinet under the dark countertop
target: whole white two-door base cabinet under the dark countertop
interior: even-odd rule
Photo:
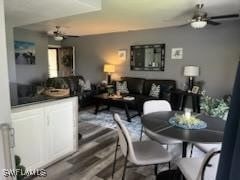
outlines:
[[[42,168],[76,151],[77,98],[12,109],[15,154],[28,169]]]

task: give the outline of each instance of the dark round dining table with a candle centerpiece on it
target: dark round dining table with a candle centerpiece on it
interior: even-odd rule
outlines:
[[[183,129],[171,125],[168,121],[175,114],[182,111],[162,111],[143,115],[143,127],[157,135],[182,141],[182,157],[187,155],[188,143],[221,143],[223,140],[225,121],[221,118],[210,117],[204,114],[194,114],[198,119],[207,123],[204,129]]]

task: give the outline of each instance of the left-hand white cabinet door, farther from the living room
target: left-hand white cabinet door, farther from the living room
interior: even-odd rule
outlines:
[[[15,154],[29,169],[44,165],[44,110],[35,109],[12,113],[15,129]]]

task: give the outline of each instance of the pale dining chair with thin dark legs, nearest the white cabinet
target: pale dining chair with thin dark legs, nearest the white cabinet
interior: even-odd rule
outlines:
[[[134,166],[154,165],[155,175],[157,176],[157,165],[169,163],[172,160],[172,155],[155,141],[148,140],[142,142],[132,142],[130,134],[125,125],[122,123],[119,115],[114,114],[113,116],[117,124],[118,139],[115,149],[112,178],[115,173],[118,146],[121,147],[121,151],[125,157],[122,175],[123,180],[125,178],[126,168]],[[128,162],[134,165],[128,166]]]

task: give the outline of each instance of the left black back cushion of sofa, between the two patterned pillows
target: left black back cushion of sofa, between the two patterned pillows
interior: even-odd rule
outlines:
[[[127,81],[127,87],[130,94],[142,94],[143,85],[145,79],[142,78],[133,78],[133,77],[123,77],[122,80]]]

